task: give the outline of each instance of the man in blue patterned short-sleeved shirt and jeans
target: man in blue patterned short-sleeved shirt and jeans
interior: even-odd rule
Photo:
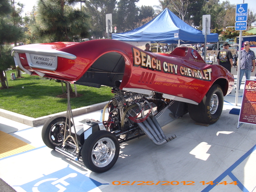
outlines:
[[[238,90],[240,90],[243,74],[245,74],[246,80],[250,80],[251,72],[255,69],[255,53],[250,49],[250,45],[249,41],[245,41],[245,43],[243,43],[244,49],[240,54],[241,59],[238,59],[238,62],[240,62]]]

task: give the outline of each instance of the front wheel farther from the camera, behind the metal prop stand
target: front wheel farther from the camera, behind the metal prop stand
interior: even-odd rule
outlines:
[[[47,120],[44,123],[42,129],[42,139],[44,144],[51,149],[55,149],[56,146],[60,146],[63,143],[64,131],[65,131],[65,116],[55,116]],[[67,119],[67,123],[69,120]],[[71,127],[73,123],[71,122]],[[69,125],[67,124],[66,136],[68,134]]]

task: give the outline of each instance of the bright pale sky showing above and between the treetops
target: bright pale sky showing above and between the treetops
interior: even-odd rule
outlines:
[[[220,0],[220,2],[223,2],[226,0]],[[36,0],[16,0],[16,2],[20,2],[23,3],[24,5],[24,11],[23,11],[23,15],[28,12],[31,11],[33,6],[36,5]],[[252,7],[254,7],[255,5],[255,0],[229,0],[229,2],[231,4],[242,4],[242,3],[248,3],[248,8],[252,11],[254,11],[254,9]],[[137,3],[137,6],[159,6],[159,1],[158,0],[139,0],[139,2]],[[77,3],[77,7],[80,8],[80,3]]]

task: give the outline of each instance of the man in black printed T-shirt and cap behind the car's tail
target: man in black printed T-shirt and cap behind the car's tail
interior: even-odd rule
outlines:
[[[224,68],[229,70],[229,72],[231,72],[231,67],[233,65],[233,56],[231,51],[229,50],[228,43],[224,43],[223,49],[218,52],[217,61],[219,65],[223,66]]]

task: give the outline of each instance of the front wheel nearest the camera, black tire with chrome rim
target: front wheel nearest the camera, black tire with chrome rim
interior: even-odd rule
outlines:
[[[119,156],[119,142],[113,133],[92,133],[82,146],[82,161],[86,168],[96,173],[106,172],[114,166]]]

